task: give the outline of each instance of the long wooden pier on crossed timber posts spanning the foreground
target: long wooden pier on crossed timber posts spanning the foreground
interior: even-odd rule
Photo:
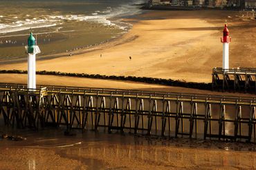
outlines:
[[[255,142],[256,98],[0,84],[5,125]],[[0,120],[1,120],[0,119]]]

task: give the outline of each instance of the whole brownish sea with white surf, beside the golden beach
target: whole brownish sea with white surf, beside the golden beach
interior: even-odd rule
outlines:
[[[125,17],[140,14],[146,0],[1,0],[0,63],[26,59],[30,30],[51,56],[105,43],[124,34]]]

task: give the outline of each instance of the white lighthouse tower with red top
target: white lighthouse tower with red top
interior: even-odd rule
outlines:
[[[229,43],[231,42],[231,37],[229,37],[229,30],[227,28],[227,24],[225,24],[225,28],[223,30],[223,38],[221,38],[221,43],[223,43],[223,65],[222,69],[228,70],[228,49],[229,49]]]

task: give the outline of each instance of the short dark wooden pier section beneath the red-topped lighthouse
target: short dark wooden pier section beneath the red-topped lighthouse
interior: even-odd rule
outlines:
[[[212,89],[223,91],[256,92],[256,69],[235,68],[224,70],[212,69]]]

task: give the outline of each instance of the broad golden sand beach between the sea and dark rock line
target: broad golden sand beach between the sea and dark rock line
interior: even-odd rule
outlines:
[[[226,21],[232,36],[230,67],[255,67],[256,22],[235,16],[239,13],[218,10],[141,14],[129,19],[134,26],[120,39],[77,56],[37,61],[37,70],[208,83],[212,68],[222,64],[220,37]],[[2,70],[26,67],[26,63],[1,65]]]

